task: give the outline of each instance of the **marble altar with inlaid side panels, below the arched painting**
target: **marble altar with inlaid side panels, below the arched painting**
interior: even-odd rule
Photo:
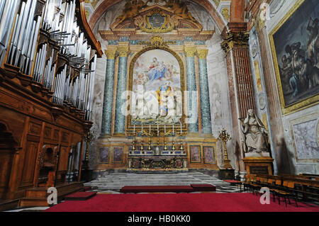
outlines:
[[[189,134],[184,137],[108,137],[98,140],[97,171],[187,171],[219,170],[217,139],[212,135]],[[133,145],[134,144],[134,145]]]

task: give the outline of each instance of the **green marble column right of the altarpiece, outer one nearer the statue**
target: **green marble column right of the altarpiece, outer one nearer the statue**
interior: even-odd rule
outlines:
[[[211,134],[211,103],[209,100],[207,60],[208,50],[197,50],[199,86],[201,89],[201,124],[204,134]]]

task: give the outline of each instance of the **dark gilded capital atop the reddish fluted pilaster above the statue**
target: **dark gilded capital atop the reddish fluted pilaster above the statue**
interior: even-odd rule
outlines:
[[[233,48],[247,48],[249,39],[249,33],[228,32],[225,34],[225,38],[223,43],[221,43],[221,47],[226,53],[228,53],[230,50],[233,50]]]

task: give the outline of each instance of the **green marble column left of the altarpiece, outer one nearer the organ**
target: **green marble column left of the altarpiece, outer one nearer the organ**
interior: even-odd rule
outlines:
[[[103,99],[103,115],[102,115],[102,135],[111,135],[112,124],[112,108],[113,108],[113,86],[114,86],[114,67],[116,49],[106,51],[107,68]]]

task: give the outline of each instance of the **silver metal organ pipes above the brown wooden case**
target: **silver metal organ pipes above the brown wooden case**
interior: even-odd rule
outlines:
[[[35,15],[37,4],[37,0],[0,0],[0,64],[8,52],[6,63],[23,74],[32,73],[34,81],[53,92],[53,103],[62,106],[66,101],[91,120],[97,56],[91,59],[91,46],[77,25],[76,0],[47,0],[41,16]],[[40,28],[60,50],[47,40],[38,44]],[[69,64],[57,68],[57,54],[67,57]],[[74,71],[79,71],[78,77]]]

